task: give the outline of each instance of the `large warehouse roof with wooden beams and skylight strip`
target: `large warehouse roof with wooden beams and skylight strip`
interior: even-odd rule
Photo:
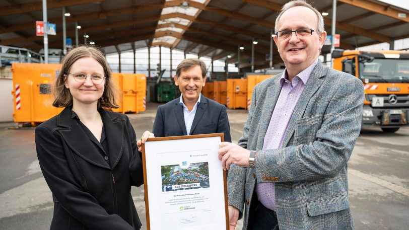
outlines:
[[[265,66],[269,53],[270,31],[278,11],[287,0],[49,0],[48,21],[56,24],[57,35],[49,35],[49,48],[62,47],[62,7],[66,17],[67,38],[75,43],[75,23],[84,34],[106,53],[116,53],[147,46],[168,46],[198,56],[235,62],[238,45],[242,60],[251,56],[255,45],[255,64]],[[311,2],[311,1],[308,1]],[[330,34],[332,0],[312,4],[324,17]],[[36,36],[35,21],[42,21],[42,2],[6,0],[0,2],[0,44],[38,51],[43,38]],[[358,46],[409,37],[409,11],[380,1],[338,0],[336,33],[340,47]],[[323,53],[329,52],[324,46]],[[275,49],[274,53],[277,53]],[[281,61],[275,55],[275,62]],[[242,63],[244,67],[248,63]]]

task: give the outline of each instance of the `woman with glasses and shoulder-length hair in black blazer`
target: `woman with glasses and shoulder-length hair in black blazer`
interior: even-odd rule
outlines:
[[[141,155],[128,117],[104,109],[118,105],[102,52],[72,49],[52,90],[53,106],[65,109],[35,130],[54,201],[50,229],[140,229],[130,187],[144,182]]]

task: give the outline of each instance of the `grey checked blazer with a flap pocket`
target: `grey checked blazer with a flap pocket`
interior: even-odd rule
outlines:
[[[280,149],[262,150],[281,74],[254,88],[239,145],[258,150],[255,169],[232,165],[228,200],[252,222],[255,183],[275,183],[280,229],[353,229],[347,162],[361,129],[362,82],[318,62],[302,92]]]

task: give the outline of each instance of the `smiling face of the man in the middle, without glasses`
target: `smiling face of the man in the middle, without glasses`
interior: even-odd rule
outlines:
[[[181,71],[179,77],[174,76],[175,84],[179,87],[182,93],[183,102],[195,103],[199,99],[201,88],[206,83],[206,78],[201,75],[201,68],[196,65]]]

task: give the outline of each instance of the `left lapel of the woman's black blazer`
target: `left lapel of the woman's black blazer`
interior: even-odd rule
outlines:
[[[110,169],[108,163],[101,156],[97,147],[92,143],[87,134],[75,119],[71,118],[71,108],[66,107],[58,115],[58,126],[62,127],[58,131],[61,133],[66,144],[73,151],[89,163]]]

